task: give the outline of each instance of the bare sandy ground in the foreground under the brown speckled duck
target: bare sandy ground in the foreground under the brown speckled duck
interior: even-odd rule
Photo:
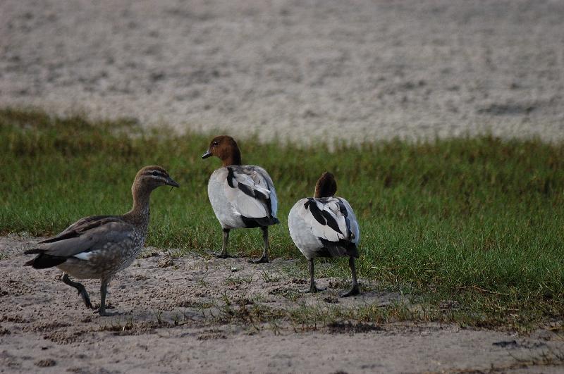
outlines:
[[[288,276],[295,261],[266,265],[245,258],[172,258],[147,248],[145,258],[111,283],[112,317],[85,308],[56,269],[23,268],[35,238],[1,237],[0,372],[154,373],[558,373],[546,365],[564,356],[562,337],[549,330],[531,335],[467,330],[455,325],[333,323],[299,325],[229,318],[264,306],[289,311],[304,305],[326,310],[338,304],[384,306],[399,294],[381,292],[361,280],[360,297],[338,299],[343,280],[301,294],[302,278]],[[305,275],[305,274],[304,274]],[[96,281],[85,281],[92,301]],[[294,295],[289,297],[288,295]],[[264,309],[266,310],[266,309]],[[223,313],[222,313],[223,311]],[[266,312],[265,312],[266,313]],[[560,361],[561,362],[561,361]],[[535,364],[536,363],[536,364]]]

